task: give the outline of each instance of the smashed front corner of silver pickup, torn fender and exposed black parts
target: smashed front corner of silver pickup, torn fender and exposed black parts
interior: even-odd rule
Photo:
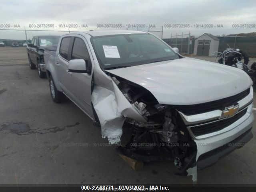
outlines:
[[[192,175],[196,181],[196,143],[179,112],[159,104],[151,92],[138,84],[107,73],[111,88],[95,86],[92,104],[102,136],[119,144],[118,152],[142,162],[171,160],[176,174]]]

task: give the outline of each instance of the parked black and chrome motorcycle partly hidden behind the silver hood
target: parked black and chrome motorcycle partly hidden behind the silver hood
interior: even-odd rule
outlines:
[[[218,63],[244,70],[252,79],[253,90],[256,91],[256,62],[249,68],[249,57],[245,52],[239,49],[228,48],[223,52],[214,52],[214,55]],[[242,62],[242,60],[244,60],[244,62]]]

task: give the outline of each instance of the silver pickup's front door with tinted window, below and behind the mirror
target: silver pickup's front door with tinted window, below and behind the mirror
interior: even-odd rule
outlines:
[[[71,42],[70,60],[84,59],[92,63],[88,44],[83,36],[76,35]],[[67,69],[68,70],[68,69]],[[89,116],[93,117],[91,106],[91,80],[92,74],[66,72],[65,87],[68,89],[72,100]]]

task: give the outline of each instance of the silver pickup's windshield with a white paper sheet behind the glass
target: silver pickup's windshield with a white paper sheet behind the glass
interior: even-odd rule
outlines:
[[[98,61],[104,69],[179,58],[176,52],[151,34],[99,36],[91,38],[91,42]]]

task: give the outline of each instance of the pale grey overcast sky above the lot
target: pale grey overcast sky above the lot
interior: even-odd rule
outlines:
[[[256,24],[256,0],[0,0],[0,24],[87,24],[97,29],[97,24],[155,24],[159,30],[164,24],[222,24],[223,28],[196,29],[164,28],[163,37],[170,34],[199,36],[204,32],[213,35],[253,32],[256,28],[232,28],[232,24]],[[118,29],[118,28],[117,28]],[[125,27],[123,29],[126,29]],[[148,28],[144,28],[147,30]],[[36,28],[38,30],[38,28]],[[54,28],[50,30],[68,30]],[[139,29],[139,30],[143,30]],[[65,32],[27,32],[28,38],[40,34]],[[160,35],[156,32],[155,34]],[[25,39],[24,32],[0,30],[0,39]]]

